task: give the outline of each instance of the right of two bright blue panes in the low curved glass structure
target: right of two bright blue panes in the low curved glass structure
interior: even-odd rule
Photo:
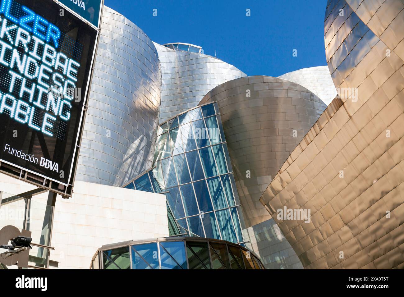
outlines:
[[[161,269],[187,269],[183,241],[160,242]]]

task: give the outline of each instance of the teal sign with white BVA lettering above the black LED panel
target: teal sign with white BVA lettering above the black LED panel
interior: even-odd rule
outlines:
[[[83,19],[99,27],[101,21],[102,0],[58,0],[66,7],[80,15]]]

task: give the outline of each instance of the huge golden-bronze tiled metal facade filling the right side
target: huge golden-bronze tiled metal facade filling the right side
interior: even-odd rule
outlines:
[[[305,268],[403,269],[404,4],[347,2],[328,1],[324,22],[341,99],[260,200]],[[278,219],[284,207],[310,209],[310,222]]]

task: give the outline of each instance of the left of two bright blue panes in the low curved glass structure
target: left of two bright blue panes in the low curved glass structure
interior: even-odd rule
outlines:
[[[132,269],[158,269],[157,242],[131,246]]]

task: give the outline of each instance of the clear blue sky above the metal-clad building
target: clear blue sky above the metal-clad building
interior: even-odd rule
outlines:
[[[187,42],[247,75],[326,65],[326,0],[105,0],[154,42]],[[157,17],[153,17],[153,9]],[[250,8],[251,16],[246,16]],[[297,49],[297,57],[292,57]]]

